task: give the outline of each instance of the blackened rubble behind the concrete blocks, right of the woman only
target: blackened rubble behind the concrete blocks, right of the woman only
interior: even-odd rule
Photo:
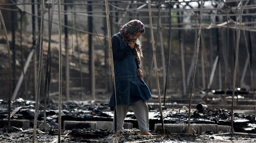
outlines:
[[[185,108],[185,109],[184,109]],[[165,117],[164,123],[184,123],[187,124],[187,110],[186,107],[182,107],[178,110],[163,110],[163,116]],[[154,120],[160,119],[160,113],[154,116]],[[234,131],[255,133],[254,125],[256,123],[256,115],[240,115],[234,113]],[[206,108],[202,111],[195,110],[191,115],[191,124],[218,124],[230,126],[231,124],[231,111],[220,108]],[[152,120],[152,122],[155,122]]]

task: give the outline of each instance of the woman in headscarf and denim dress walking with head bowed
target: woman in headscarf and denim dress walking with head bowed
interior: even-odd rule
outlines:
[[[150,90],[141,79],[142,50],[138,36],[145,32],[144,25],[139,20],[132,20],[123,25],[120,32],[111,38],[115,87],[117,101],[117,132],[124,133],[124,119],[129,110],[135,113],[141,135],[151,135],[149,131],[148,101]],[[114,106],[113,93],[109,107]]]

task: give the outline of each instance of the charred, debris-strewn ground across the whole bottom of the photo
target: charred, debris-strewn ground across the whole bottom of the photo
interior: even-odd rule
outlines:
[[[11,119],[30,120],[30,128],[13,127],[12,130],[4,126],[0,130],[0,143],[30,143],[33,136],[33,120],[35,116],[35,101],[25,101],[17,99],[11,104],[13,116]],[[7,118],[8,103],[0,100],[0,120]],[[15,111],[15,114],[14,114]],[[208,130],[201,135],[174,134],[169,132],[154,132],[154,124],[161,123],[160,111],[150,106],[150,132],[153,136],[139,135],[137,120],[129,111],[125,122],[133,123],[132,129],[126,129],[123,135],[118,135],[119,143],[146,142],[146,143],[253,143],[256,141],[255,127],[256,116],[240,115],[234,113],[234,134],[213,135]],[[163,108],[164,123],[187,124],[187,107]],[[37,127],[37,143],[57,143],[58,142],[58,104],[50,103],[46,107],[46,121],[48,130]],[[74,121],[113,121],[113,110],[105,103],[95,101],[69,101],[62,104],[62,122],[64,120]],[[43,121],[43,105],[39,104],[38,122]],[[221,108],[206,108],[202,111],[194,110],[191,114],[191,124],[218,124],[230,125],[230,110]],[[63,125],[63,123],[62,123]],[[52,130],[50,130],[52,126]],[[236,132],[246,132],[248,135],[236,135]],[[254,135],[253,135],[254,134]],[[73,130],[61,130],[61,142],[63,143],[112,143],[115,134],[113,130],[96,130],[93,128],[83,128]]]

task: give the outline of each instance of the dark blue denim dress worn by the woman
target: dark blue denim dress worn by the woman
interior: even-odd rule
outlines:
[[[115,34],[119,39],[120,47],[124,49],[126,45],[119,34]],[[129,105],[136,101],[148,101],[151,97],[150,90],[145,82],[137,76],[137,65],[132,50],[127,53],[123,60],[114,61],[115,90],[117,105]],[[113,92],[108,106],[113,107]]]

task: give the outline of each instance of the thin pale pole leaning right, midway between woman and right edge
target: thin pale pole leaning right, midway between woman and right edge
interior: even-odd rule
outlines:
[[[197,48],[196,48],[196,55],[195,55],[195,64],[193,69],[192,81],[191,81],[191,89],[190,89],[190,96],[189,96],[189,119],[188,119],[188,130],[187,132],[190,134],[190,111],[191,111],[191,102],[192,102],[192,93],[195,83],[195,71],[197,66],[197,58],[198,58],[198,51],[200,46],[200,36],[201,36],[201,27],[202,27],[202,8],[203,8],[203,0],[201,0],[200,4],[200,17],[199,17],[199,28],[198,28],[198,36],[197,36]]]

